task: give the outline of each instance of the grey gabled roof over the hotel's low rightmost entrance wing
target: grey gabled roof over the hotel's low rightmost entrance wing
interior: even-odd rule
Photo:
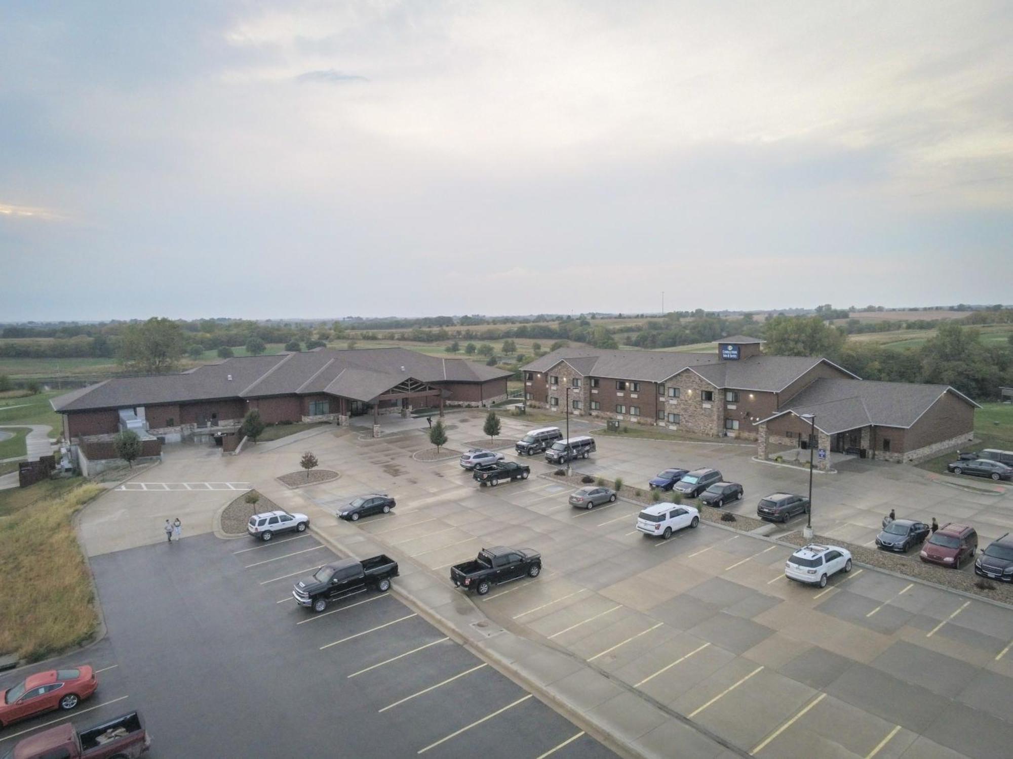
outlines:
[[[870,424],[907,429],[947,393],[978,408],[977,403],[948,385],[822,377],[757,424],[784,414],[812,414],[814,426],[827,434]]]

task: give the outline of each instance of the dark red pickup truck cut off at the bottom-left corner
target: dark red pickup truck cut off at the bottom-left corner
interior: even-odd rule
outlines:
[[[141,715],[131,711],[80,733],[70,723],[51,728],[18,741],[0,759],[134,759],[150,747]]]

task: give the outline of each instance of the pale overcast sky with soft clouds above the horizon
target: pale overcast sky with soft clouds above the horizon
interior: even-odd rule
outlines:
[[[1009,2],[0,5],[0,320],[1011,303]]]

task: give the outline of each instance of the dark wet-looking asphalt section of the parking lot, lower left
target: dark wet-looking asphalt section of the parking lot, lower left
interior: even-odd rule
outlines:
[[[140,709],[154,757],[614,756],[389,593],[298,606],[293,582],[333,558],[306,534],[94,559],[108,636],[66,659],[100,670],[71,719]],[[0,751],[61,716],[3,731]]]

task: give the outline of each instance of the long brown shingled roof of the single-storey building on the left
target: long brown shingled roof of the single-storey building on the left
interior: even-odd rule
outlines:
[[[173,374],[114,377],[66,393],[51,403],[56,411],[84,411],[310,393],[372,401],[408,377],[426,384],[484,383],[510,374],[495,366],[406,348],[318,349],[227,358]]]

